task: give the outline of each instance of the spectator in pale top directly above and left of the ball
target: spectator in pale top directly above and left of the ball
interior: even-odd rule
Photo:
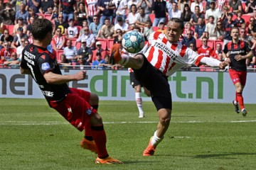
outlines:
[[[110,23],[110,18],[105,18],[105,24],[100,29],[100,38],[112,39],[114,26]]]

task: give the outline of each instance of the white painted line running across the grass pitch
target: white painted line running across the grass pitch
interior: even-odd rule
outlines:
[[[254,123],[256,120],[238,120],[238,121],[220,121],[220,122],[209,122],[209,121],[173,121],[171,123]],[[104,124],[132,124],[132,123],[158,123],[151,121],[141,122],[105,122]],[[68,122],[35,122],[35,121],[0,121],[0,125],[68,125]]]

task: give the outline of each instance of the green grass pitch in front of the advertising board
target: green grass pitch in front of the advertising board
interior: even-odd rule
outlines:
[[[231,103],[175,103],[165,139],[154,157],[142,157],[158,117],[144,102],[100,101],[110,156],[124,164],[95,164],[80,147],[83,132],[68,124],[44,99],[0,99],[0,169],[256,169],[255,105],[246,118]]]

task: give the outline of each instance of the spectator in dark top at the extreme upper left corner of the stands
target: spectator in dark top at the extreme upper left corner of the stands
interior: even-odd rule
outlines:
[[[14,25],[16,12],[11,8],[11,4],[6,3],[6,7],[0,10],[0,15],[3,18],[4,25]]]

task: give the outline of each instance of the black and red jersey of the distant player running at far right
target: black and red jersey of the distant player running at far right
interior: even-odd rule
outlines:
[[[228,42],[223,50],[225,54],[228,53],[228,57],[230,58],[230,69],[234,69],[236,71],[246,71],[247,67],[245,60],[237,61],[235,60],[235,56],[247,55],[247,52],[250,51],[251,49],[248,43],[242,40],[239,40],[238,43],[233,43],[233,41]]]

